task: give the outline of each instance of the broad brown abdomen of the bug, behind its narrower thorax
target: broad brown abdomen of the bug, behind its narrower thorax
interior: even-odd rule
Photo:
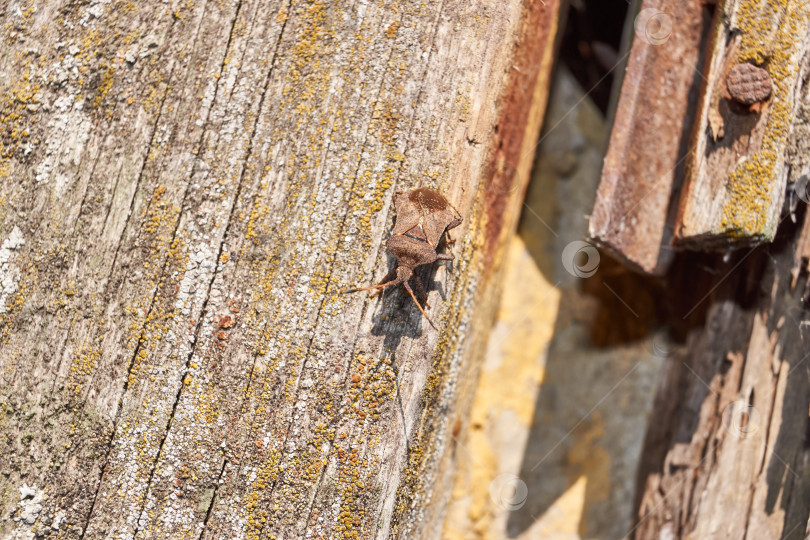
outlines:
[[[445,196],[429,188],[397,194],[394,206],[397,209],[394,234],[412,236],[433,247],[446,230],[461,223],[461,214]]]

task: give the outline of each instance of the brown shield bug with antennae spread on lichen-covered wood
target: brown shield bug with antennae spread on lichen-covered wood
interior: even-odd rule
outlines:
[[[447,243],[453,242],[449,231],[461,224],[461,214],[453,208],[444,195],[429,188],[397,193],[394,197],[394,206],[397,210],[397,220],[393,234],[385,243],[385,247],[397,258],[397,265],[377,285],[341,292],[382,290],[401,283],[422,315],[433,328],[436,328],[416,299],[408,281],[413,278],[417,292],[425,299],[425,305],[430,307],[427,303],[425,287],[413,271],[414,268],[423,264],[452,261],[455,258],[452,254],[436,253],[436,246],[439,245],[439,240],[445,233],[447,233]],[[379,292],[375,292],[372,296],[376,296]]]

